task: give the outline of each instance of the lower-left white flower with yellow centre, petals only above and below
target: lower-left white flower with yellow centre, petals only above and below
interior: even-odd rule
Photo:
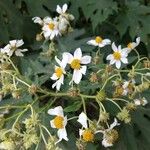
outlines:
[[[57,135],[59,140],[55,144],[60,142],[62,139],[68,141],[66,132],[67,116],[64,116],[63,108],[61,106],[57,106],[54,109],[49,109],[48,114],[56,116],[50,121],[51,127],[58,129]]]

